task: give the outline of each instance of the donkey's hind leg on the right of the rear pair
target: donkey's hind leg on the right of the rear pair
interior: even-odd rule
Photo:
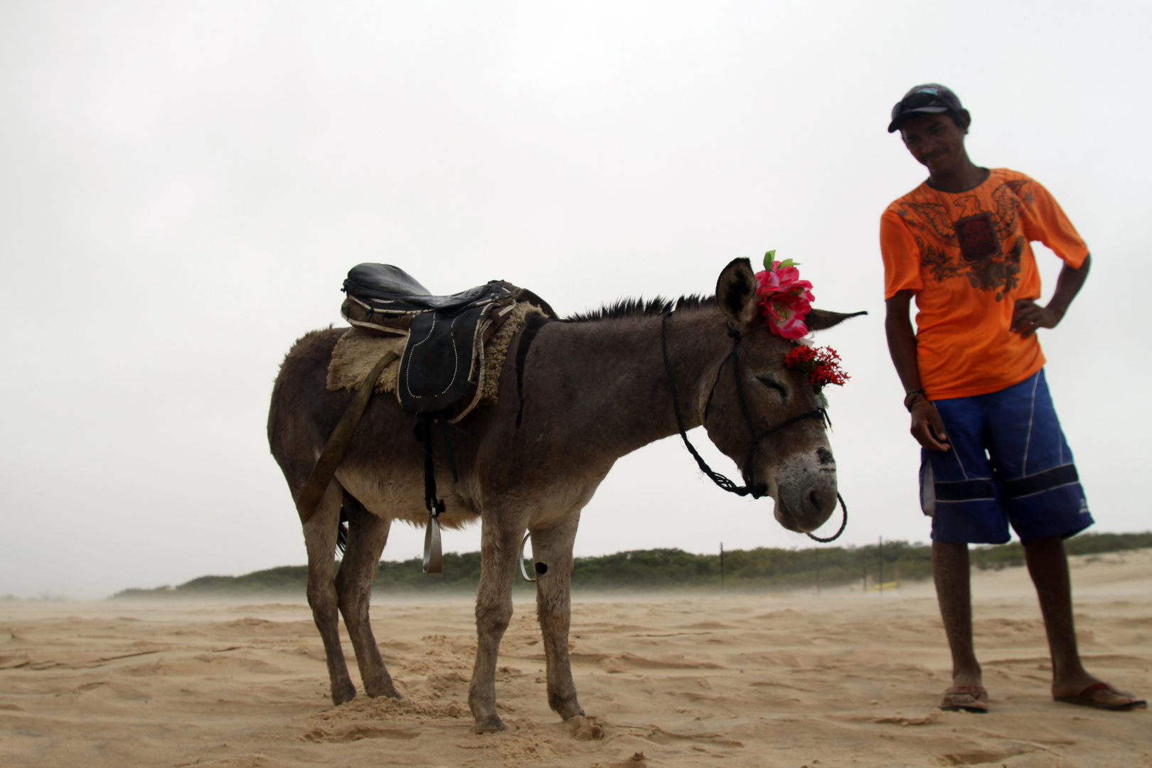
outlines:
[[[348,547],[336,573],[336,595],[340,613],[356,649],[356,663],[370,697],[386,695],[400,699],[392,684],[392,676],[380,659],[380,649],[372,636],[369,603],[372,600],[372,579],[376,577],[380,553],[388,541],[392,520],[377,517],[344,492],[344,511],[348,515]]]

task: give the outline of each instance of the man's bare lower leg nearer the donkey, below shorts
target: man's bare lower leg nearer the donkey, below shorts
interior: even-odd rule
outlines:
[[[983,685],[983,672],[972,642],[972,587],[968,545],[933,541],[932,577],[935,580],[943,631],[952,649],[953,685]]]

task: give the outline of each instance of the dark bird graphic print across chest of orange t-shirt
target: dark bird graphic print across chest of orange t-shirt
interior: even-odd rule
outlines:
[[[991,211],[982,210],[976,195],[957,197],[950,206],[903,203],[899,213],[920,249],[922,266],[937,281],[967,275],[972,288],[995,291],[995,299],[1001,301],[1020,284],[1025,241],[1017,206],[1021,197],[1031,198],[1028,184],[1028,180],[1011,180],[996,187]],[[955,214],[960,216],[953,219]]]

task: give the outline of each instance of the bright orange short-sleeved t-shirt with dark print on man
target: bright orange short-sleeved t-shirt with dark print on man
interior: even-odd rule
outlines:
[[[1044,366],[1036,334],[1009,332],[1016,299],[1040,297],[1030,241],[1074,269],[1087,256],[1048,190],[1007,168],[963,192],[924,182],[880,216],[884,297],[916,292],[917,358],[930,400],[999,391]]]

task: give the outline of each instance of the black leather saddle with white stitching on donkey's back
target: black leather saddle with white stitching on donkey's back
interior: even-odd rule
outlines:
[[[500,280],[435,296],[389,264],[353,267],[343,290],[348,298],[341,314],[355,328],[408,335],[396,394],[401,408],[412,413],[444,411],[475,393],[484,343],[517,301],[530,301],[555,317],[535,294]]]

